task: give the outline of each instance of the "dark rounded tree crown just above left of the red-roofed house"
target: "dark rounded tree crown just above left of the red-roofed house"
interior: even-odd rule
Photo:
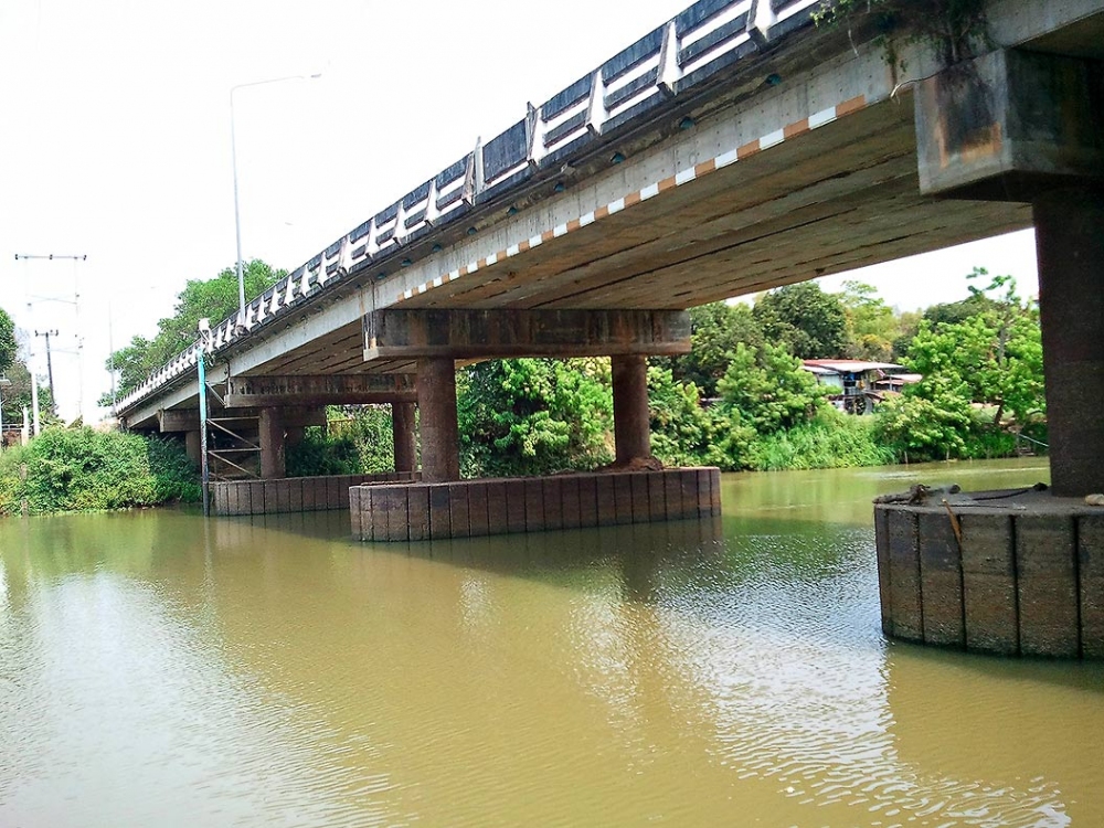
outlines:
[[[839,297],[815,282],[802,282],[760,297],[752,315],[769,342],[784,344],[798,359],[842,357],[847,316]]]

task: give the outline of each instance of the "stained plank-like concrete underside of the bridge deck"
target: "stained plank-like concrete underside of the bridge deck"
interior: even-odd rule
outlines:
[[[1028,204],[921,194],[904,94],[401,307],[684,309],[1029,226]],[[415,370],[414,360],[365,361],[358,319],[248,374]]]

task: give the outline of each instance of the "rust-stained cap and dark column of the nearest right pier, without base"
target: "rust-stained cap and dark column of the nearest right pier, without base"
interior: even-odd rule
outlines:
[[[921,189],[1028,201],[1051,488],[1104,491],[1104,86],[1091,60],[997,51],[922,82]]]

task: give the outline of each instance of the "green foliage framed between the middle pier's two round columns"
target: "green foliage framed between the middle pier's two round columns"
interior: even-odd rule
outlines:
[[[466,477],[546,475],[609,461],[607,361],[492,360],[457,379]]]

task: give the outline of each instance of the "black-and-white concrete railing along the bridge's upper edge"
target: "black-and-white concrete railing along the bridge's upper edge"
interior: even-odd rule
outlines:
[[[354,267],[393,257],[482,201],[564,164],[587,144],[811,22],[820,0],[699,0],[588,75],[376,213],[211,330],[214,353],[339,283]],[[375,278],[389,274],[381,270]],[[195,368],[191,346],[118,403],[129,407]]]

